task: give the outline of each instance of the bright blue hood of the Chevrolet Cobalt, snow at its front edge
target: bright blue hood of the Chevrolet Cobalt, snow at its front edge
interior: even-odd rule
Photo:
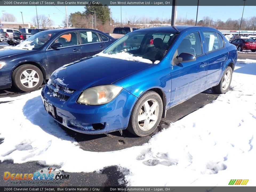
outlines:
[[[85,90],[112,84],[151,65],[153,64],[96,56],[57,69],[52,74],[51,81],[69,89]]]

